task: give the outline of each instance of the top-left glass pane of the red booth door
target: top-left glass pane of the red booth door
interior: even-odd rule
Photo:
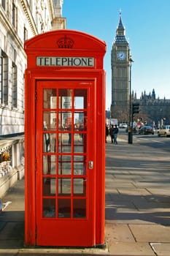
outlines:
[[[56,89],[44,89],[44,108],[56,108]]]

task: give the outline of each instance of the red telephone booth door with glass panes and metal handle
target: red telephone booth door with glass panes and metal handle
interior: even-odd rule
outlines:
[[[36,245],[93,246],[94,81],[36,81]]]

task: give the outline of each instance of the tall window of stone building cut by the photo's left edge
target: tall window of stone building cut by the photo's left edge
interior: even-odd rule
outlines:
[[[0,101],[1,104],[8,105],[8,56],[3,50],[1,50],[0,68]]]

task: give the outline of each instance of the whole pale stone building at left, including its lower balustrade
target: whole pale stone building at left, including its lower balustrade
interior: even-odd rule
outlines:
[[[66,29],[62,6],[63,0],[0,0],[0,198],[24,176],[24,42]]]

